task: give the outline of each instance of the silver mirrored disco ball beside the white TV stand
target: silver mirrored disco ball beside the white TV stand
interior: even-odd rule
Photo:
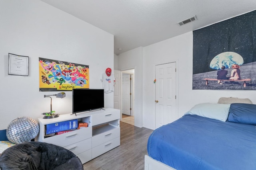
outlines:
[[[7,139],[12,143],[24,143],[34,139],[39,133],[37,121],[30,117],[18,117],[6,129]]]

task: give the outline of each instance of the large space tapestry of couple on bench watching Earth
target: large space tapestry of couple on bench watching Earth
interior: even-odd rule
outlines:
[[[193,31],[193,90],[256,90],[256,10]]]

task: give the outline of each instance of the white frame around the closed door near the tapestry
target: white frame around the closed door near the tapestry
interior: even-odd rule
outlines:
[[[154,64],[154,78],[156,78],[156,66],[161,65],[161,64],[168,64],[168,63],[176,63],[176,115],[178,115],[178,59],[176,61],[170,61],[170,62],[165,62],[165,63],[156,63]],[[154,100],[156,99],[156,86],[154,86]],[[154,129],[156,129],[156,104],[154,102]],[[179,118],[179,115],[177,119]]]

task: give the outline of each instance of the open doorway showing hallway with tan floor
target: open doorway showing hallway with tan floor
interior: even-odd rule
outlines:
[[[121,112],[124,123],[134,125],[134,69],[121,71]]]

